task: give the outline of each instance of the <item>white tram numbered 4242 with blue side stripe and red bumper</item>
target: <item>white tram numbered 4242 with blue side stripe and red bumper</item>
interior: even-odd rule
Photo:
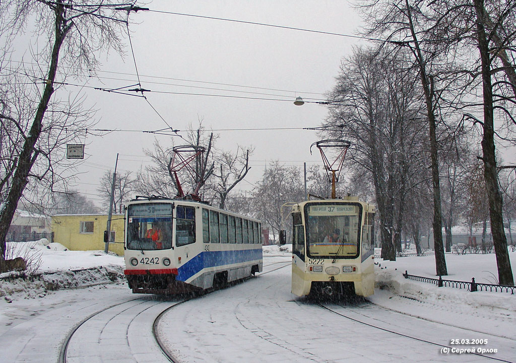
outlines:
[[[133,293],[202,291],[263,268],[260,221],[202,202],[136,197],[126,205],[125,231]]]

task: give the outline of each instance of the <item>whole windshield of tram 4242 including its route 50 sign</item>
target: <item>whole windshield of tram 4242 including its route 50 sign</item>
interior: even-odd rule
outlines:
[[[127,208],[127,249],[166,250],[172,247],[172,205],[132,204]]]

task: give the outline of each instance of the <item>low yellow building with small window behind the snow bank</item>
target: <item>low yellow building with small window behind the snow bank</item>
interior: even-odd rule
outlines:
[[[72,251],[104,251],[107,215],[56,215],[52,217],[54,242]],[[109,251],[124,255],[124,215],[112,215]]]

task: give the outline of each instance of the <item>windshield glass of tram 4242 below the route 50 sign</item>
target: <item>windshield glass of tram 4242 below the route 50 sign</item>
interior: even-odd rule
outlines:
[[[165,250],[172,246],[172,218],[130,217],[127,249]]]

